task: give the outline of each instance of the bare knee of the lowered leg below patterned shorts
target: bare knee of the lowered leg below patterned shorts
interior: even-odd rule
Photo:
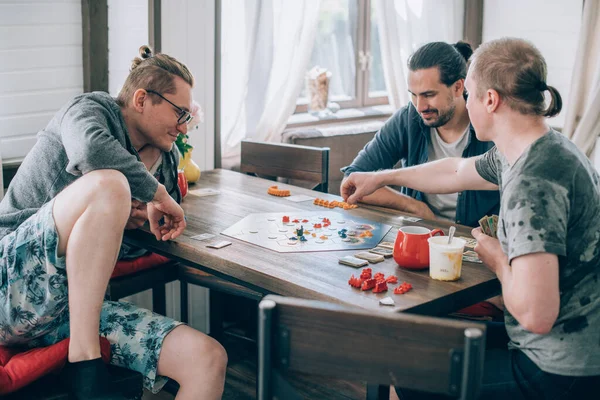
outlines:
[[[213,338],[185,325],[165,337],[157,373],[179,383],[177,400],[220,399],[226,370],[227,353]]]

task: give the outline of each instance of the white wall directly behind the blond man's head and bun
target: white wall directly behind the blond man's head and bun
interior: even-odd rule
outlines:
[[[483,41],[504,36],[521,37],[533,42],[548,64],[548,84],[563,98],[563,111],[550,119],[562,127],[569,98],[571,73],[583,0],[485,0]]]

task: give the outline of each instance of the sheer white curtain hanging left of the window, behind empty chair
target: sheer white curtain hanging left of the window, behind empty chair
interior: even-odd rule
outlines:
[[[245,138],[280,141],[304,83],[320,0],[223,0],[221,158]]]

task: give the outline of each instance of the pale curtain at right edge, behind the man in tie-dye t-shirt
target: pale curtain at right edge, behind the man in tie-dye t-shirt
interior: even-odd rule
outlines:
[[[563,132],[588,156],[600,135],[600,2],[585,1]]]

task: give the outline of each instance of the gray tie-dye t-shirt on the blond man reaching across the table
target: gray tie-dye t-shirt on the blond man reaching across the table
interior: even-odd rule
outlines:
[[[509,262],[532,253],[559,261],[560,312],[547,335],[526,331],[505,312],[512,348],[540,369],[600,375],[600,178],[563,135],[550,131],[509,165],[496,148],[476,162],[500,187],[498,238]]]

